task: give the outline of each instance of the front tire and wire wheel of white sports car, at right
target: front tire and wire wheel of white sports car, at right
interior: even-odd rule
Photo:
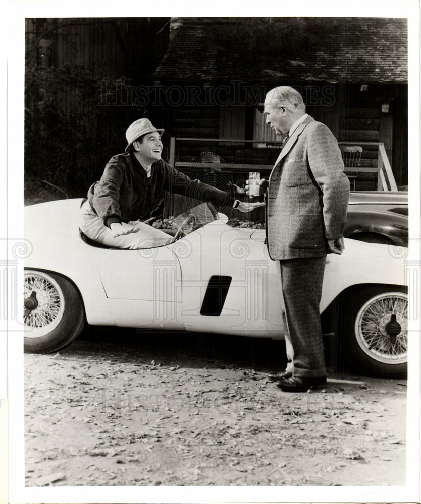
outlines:
[[[366,285],[348,291],[339,335],[345,360],[369,376],[406,376],[407,309],[401,286]]]

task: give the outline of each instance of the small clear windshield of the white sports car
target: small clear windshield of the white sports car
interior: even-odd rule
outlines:
[[[186,210],[175,217],[157,219],[153,222],[152,226],[174,236],[180,230],[180,235],[177,236],[179,238],[209,224],[209,222],[218,220],[218,218],[218,212],[215,207],[212,203],[206,202]]]

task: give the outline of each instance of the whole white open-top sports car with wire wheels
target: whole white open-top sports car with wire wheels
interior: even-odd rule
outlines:
[[[174,219],[174,239],[104,248],[79,230],[83,200],[26,207],[25,351],[56,352],[85,323],[282,339],[281,283],[265,230],[232,228],[212,205]],[[165,231],[162,231],[163,233]],[[168,235],[166,235],[168,238]],[[388,245],[345,240],[327,257],[322,322],[359,371],[406,372],[404,264]]]

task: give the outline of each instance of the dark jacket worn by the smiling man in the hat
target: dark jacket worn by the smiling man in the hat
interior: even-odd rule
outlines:
[[[88,200],[106,226],[112,222],[145,220],[160,204],[165,192],[232,206],[233,198],[224,191],[191,180],[162,159],[146,171],[131,154],[117,154],[107,163],[101,179],[91,185]]]

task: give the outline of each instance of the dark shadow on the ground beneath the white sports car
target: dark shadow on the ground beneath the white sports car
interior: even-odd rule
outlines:
[[[258,371],[284,369],[285,342],[186,331],[136,331],[135,329],[88,326],[61,353],[110,354],[129,362],[139,361],[188,367],[245,367]],[[349,369],[337,357],[334,338],[326,338],[325,356],[330,371]]]

